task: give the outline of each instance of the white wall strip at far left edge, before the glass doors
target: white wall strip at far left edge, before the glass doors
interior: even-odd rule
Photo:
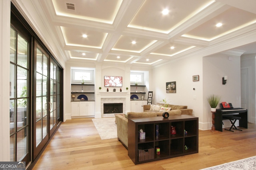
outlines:
[[[0,1],[0,161],[10,161],[10,0]]]

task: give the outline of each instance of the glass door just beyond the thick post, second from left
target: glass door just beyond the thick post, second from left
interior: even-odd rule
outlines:
[[[48,80],[49,80],[49,54],[44,51],[35,41],[36,55],[34,55],[34,93],[33,101],[33,151],[34,158],[38,156],[44,145],[50,139],[49,137],[49,111],[52,104],[48,98]],[[33,160],[34,160],[33,158]]]

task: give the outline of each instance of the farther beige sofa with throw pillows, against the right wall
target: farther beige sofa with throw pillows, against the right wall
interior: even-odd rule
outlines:
[[[159,106],[159,107],[162,106],[162,108],[163,108],[162,103],[156,103],[155,106]],[[168,104],[167,107],[171,108],[170,111],[167,111],[169,113],[169,115],[172,115],[172,112],[176,111],[176,110],[180,110],[182,115],[192,115],[192,111],[193,111],[193,109],[188,109],[188,106],[179,106],[179,105]],[[152,105],[144,105],[143,111],[144,112],[154,112],[154,113],[157,113],[157,115],[161,115],[161,116],[163,114],[163,111],[158,111],[158,109],[154,110],[154,108],[152,108]]]

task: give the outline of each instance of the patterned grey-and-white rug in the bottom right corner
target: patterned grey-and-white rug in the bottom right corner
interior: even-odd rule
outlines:
[[[255,170],[256,169],[256,156],[236,160],[226,164],[204,168],[202,170]]]

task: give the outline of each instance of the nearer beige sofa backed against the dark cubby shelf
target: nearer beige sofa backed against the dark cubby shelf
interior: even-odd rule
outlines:
[[[128,112],[127,115],[116,114],[116,127],[117,127],[117,138],[126,149],[128,148],[128,118],[134,117],[156,117],[162,116],[154,112]],[[170,115],[180,115],[180,110],[173,110]]]

